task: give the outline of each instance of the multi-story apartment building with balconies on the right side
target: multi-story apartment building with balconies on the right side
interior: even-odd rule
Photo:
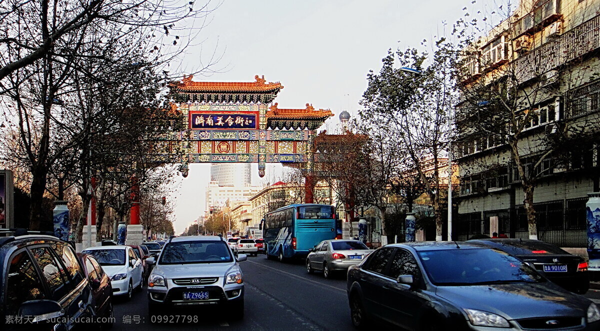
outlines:
[[[500,232],[529,237],[532,185],[538,239],[586,247],[587,193],[600,191],[599,9],[600,0],[521,1],[470,49],[455,239],[488,233],[491,216]]]

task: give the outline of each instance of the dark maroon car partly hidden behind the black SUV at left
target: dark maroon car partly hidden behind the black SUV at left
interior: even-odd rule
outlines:
[[[110,285],[110,277],[106,275],[102,267],[92,255],[77,253],[79,262],[83,266],[83,272],[88,278],[88,282],[92,288],[92,296],[94,296],[94,308],[96,315],[105,317],[107,320],[113,317],[112,305],[112,286]],[[110,321],[103,324],[103,329],[112,327]]]

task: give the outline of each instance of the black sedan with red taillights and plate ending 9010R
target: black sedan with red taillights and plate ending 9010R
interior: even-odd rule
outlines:
[[[550,243],[532,239],[478,239],[469,242],[502,249],[525,263],[531,263],[550,281],[571,292],[585,294],[590,288],[587,262]]]

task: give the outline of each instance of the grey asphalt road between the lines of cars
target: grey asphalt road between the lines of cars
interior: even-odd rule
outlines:
[[[214,310],[176,311],[197,323],[149,323],[148,297],[144,288],[130,302],[116,300],[112,330],[352,330],[346,281],[308,275],[303,263],[279,263],[264,255],[240,262],[245,283],[245,317],[235,321]],[[193,318],[193,317],[187,317]],[[173,317],[175,320],[175,316]]]

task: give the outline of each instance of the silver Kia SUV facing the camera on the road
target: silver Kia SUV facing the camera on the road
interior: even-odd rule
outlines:
[[[216,305],[234,318],[244,317],[244,278],[239,261],[223,237],[175,237],[163,247],[148,278],[148,314],[152,321],[164,308]]]

